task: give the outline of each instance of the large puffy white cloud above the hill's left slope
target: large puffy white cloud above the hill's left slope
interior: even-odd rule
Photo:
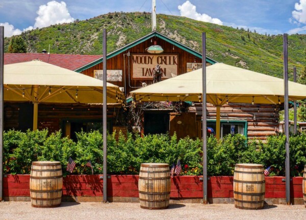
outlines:
[[[74,21],[74,18],[68,12],[65,2],[48,2],[46,5],[39,6],[39,10],[36,13],[38,17],[35,18],[34,28]]]

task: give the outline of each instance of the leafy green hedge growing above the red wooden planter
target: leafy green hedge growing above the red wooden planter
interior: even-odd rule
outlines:
[[[7,131],[4,133],[4,173],[29,174],[33,161],[60,161],[64,175],[69,156],[77,166],[74,174],[90,174],[84,166],[91,160],[95,174],[103,173],[103,137],[98,131],[77,133],[78,141],[63,138],[61,132],[48,135],[47,130]],[[202,141],[169,135],[139,135],[128,133],[108,135],[108,173],[138,174],[141,163],[176,163],[180,158],[182,175],[202,174]],[[271,175],[285,174],[285,136],[270,136],[267,143],[249,141],[244,136],[228,135],[207,142],[207,171],[210,176],[233,175],[236,163],[259,163],[273,166]],[[301,176],[306,164],[306,134],[290,137],[291,175]],[[84,171],[83,171],[84,170]]]

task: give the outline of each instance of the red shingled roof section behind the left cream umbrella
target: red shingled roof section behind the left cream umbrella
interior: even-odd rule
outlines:
[[[47,53],[5,53],[4,64],[16,64],[39,59],[68,70],[76,70],[90,62],[103,57],[102,55],[47,54]]]

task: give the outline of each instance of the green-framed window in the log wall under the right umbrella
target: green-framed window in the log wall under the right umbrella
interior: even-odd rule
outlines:
[[[216,120],[207,120],[207,127],[216,131]],[[220,137],[226,135],[241,134],[247,137],[247,121],[246,120],[221,120],[220,121]]]

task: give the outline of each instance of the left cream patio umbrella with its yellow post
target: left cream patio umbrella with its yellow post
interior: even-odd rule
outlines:
[[[4,65],[4,88],[5,101],[33,102],[33,130],[39,103],[103,102],[103,81],[40,60]],[[107,83],[107,91],[108,103],[123,99],[118,86]]]

